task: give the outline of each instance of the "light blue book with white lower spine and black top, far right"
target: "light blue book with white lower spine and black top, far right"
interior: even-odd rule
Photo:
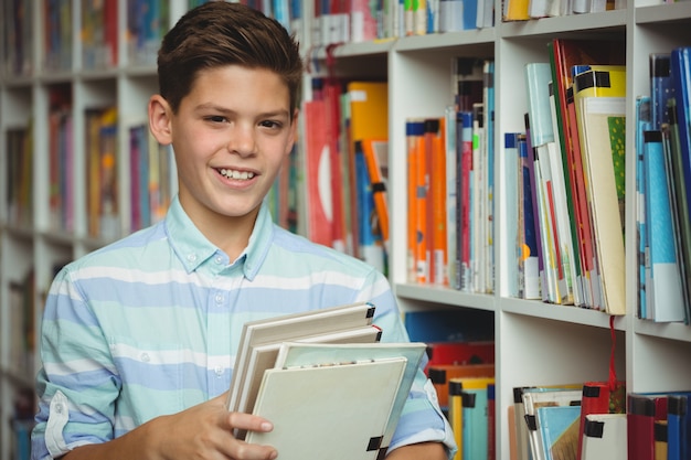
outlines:
[[[650,260],[646,304],[648,309],[652,308],[652,314],[648,312],[647,317],[660,322],[683,321],[685,308],[677,259],[677,235],[672,224],[662,132],[659,130],[644,132],[644,164]]]

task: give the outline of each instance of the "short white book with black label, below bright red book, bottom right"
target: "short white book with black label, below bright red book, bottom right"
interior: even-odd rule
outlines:
[[[626,414],[588,414],[582,460],[627,460]]]

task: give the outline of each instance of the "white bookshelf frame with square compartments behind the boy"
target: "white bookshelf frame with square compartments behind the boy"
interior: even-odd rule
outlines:
[[[0,1],[3,12],[10,2]],[[14,397],[21,388],[33,386],[39,363],[33,351],[24,352],[24,367],[14,363],[13,310],[20,298],[17,287],[30,286],[22,301],[30,300],[35,318],[54,271],[65,261],[79,257],[131,229],[132,206],[130,163],[125,156],[115,157],[117,224],[109,235],[89,233],[89,216],[85,196],[86,174],[77,174],[68,196],[70,224],[61,225],[52,207],[53,192],[46,174],[57,163],[53,160],[50,141],[49,114],[59,108],[71,119],[74,140],[74,171],[86,171],[87,110],[116,108],[118,130],[117,151],[129,151],[129,128],[146,120],[146,100],[156,92],[157,79],[150,54],[139,55],[130,50],[124,33],[127,24],[127,2],[117,4],[117,61],[109,65],[89,67],[93,56],[84,50],[79,36],[81,1],[55,2],[70,7],[67,28],[53,31],[61,36],[62,47],[49,47],[43,40],[46,14],[43,2],[26,2],[24,29],[33,31],[23,36],[21,53],[4,53],[0,68],[13,69],[0,76],[0,460],[9,460],[13,437],[7,420],[13,415]],[[304,3],[304,17],[311,15],[311,2]],[[634,97],[648,89],[648,54],[691,45],[691,2],[657,4],[649,0],[629,0],[626,9],[521,22],[496,21],[493,28],[448,32],[397,40],[348,43],[334,51],[337,75],[358,78],[387,78],[390,90],[390,210],[391,254],[390,279],[404,311],[451,308],[491,312],[497,339],[497,458],[508,458],[509,436],[506,413],[512,404],[512,388],[520,385],[555,382],[606,379],[612,344],[609,318],[600,312],[560,307],[540,301],[509,297],[506,281],[508,260],[507,229],[502,226],[507,201],[502,193],[504,132],[523,129],[527,109],[523,92],[523,65],[532,61],[546,62],[546,41],[560,38],[616,38],[626,42],[627,62],[627,202],[626,227],[636,224]],[[168,24],[188,8],[185,0],[170,0]],[[501,2],[495,2],[500,11]],[[4,17],[3,17],[4,18]],[[309,21],[304,21],[309,30]],[[66,29],[66,30],[63,30]],[[325,51],[311,49],[310,34],[304,32],[305,50],[310,60],[325,63]],[[10,50],[7,36],[0,34],[0,50]],[[52,42],[51,42],[52,43]],[[6,46],[7,45],[7,46]],[[148,56],[148,57],[147,57]],[[472,295],[450,288],[415,285],[406,281],[406,163],[400,156],[405,151],[405,119],[412,116],[440,116],[453,96],[451,60],[459,56],[493,57],[496,62],[496,289],[491,295]],[[9,65],[10,60],[12,65]],[[114,57],[115,58],[115,57]],[[4,71],[3,71],[4,72]],[[310,96],[309,76],[304,94]],[[59,97],[60,96],[60,97]],[[64,99],[59,104],[57,99]],[[31,158],[32,168],[25,172],[23,201],[12,201],[8,181],[11,158],[7,151],[12,131],[24,130],[31,139],[23,158]],[[14,164],[14,163],[12,163]],[[40,167],[36,167],[40,165]],[[19,188],[18,190],[20,190]],[[14,195],[12,195],[14,196]],[[67,206],[65,204],[65,206]],[[65,211],[66,212],[66,211]],[[626,266],[636,267],[637,248],[626,244]],[[687,389],[691,368],[691,327],[680,323],[660,324],[638,320],[636,310],[636,272],[626,272],[627,314],[614,321],[617,343],[617,375],[626,378],[629,392]],[[38,321],[30,324],[34,336]],[[29,346],[29,345],[24,345]]]

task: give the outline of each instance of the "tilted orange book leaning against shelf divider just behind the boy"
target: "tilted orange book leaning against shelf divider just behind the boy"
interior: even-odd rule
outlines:
[[[379,217],[379,228],[382,233],[384,248],[389,252],[389,202],[386,195],[386,179],[389,175],[389,141],[386,139],[364,139],[362,152],[368,167],[374,207]]]

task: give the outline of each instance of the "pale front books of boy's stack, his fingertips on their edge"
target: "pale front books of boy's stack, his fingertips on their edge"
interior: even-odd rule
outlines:
[[[285,342],[253,410],[275,428],[246,440],[281,459],[383,458],[424,353],[423,343]]]

